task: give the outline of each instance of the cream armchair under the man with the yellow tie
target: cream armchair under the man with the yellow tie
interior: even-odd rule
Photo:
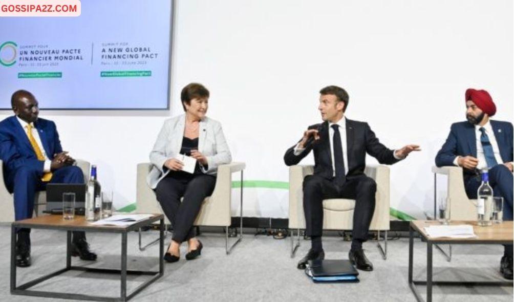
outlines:
[[[81,168],[84,174],[85,181],[89,180],[89,162],[85,160],[77,159],[77,166]],[[38,216],[46,209],[46,191],[39,191],[35,193],[34,198],[34,215]],[[2,200],[3,206],[0,211],[0,222],[12,222],[14,221],[14,199],[12,194],[7,191],[7,187],[4,182],[4,165],[0,160],[0,200]]]

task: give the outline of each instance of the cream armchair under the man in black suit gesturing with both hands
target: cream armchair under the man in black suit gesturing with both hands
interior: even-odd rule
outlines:
[[[291,229],[291,257],[300,246],[300,229],[305,229],[303,213],[303,179],[314,173],[312,165],[293,165],[289,167],[289,229]],[[387,259],[387,232],[390,229],[389,214],[389,167],[384,165],[366,166],[364,173],[377,183],[376,206],[371,220],[370,230],[377,231],[377,247],[383,259]],[[352,230],[355,200],[323,200],[323,230]],[[298,231],[295,244],[293,230]],[[384,231],[384,247],[380,245],[380,231]]]

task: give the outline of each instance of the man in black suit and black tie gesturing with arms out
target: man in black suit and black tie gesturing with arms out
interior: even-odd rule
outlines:
[[[382,145],[368,123],[344,117],[348,93],[337,86],[320,90],[318,109],[323,123],[309,126],[303,138],[284,155],[286,165],[296,165],[314,150],[314,175],[303,181],[303,209],[306,235],[311,238],[311,249],[300,262],[304,269],[308,260],[324,259],[321,236],[323,231],[323,200],[331,198],[355,199],[352,247],[350,260],[360,270],[372,271],[373,265],[362,250],[375,210],[376,183],[364,174],[366,153],[382,164],[394,164],[417,145],[390,150]]]

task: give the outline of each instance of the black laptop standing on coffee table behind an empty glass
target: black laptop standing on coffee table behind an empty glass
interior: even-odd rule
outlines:
[[[44,213],[62,214],[63,193],[75,193],[75,214],[84,215],[86,184],[49,183],[46,185],[46,210]]]

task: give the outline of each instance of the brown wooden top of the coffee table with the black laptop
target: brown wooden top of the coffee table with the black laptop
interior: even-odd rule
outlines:
[[[139,214],[139,213],[138,213]],[[150,213],[149,213],[150,214]],[[25,228],[47,228],[47,229],[87,229],[90,231],[94,230],[103,230],[103,231],[112,231],[112,232],[120,232],[126,231],[128,229],[133,229],[137,225],[148,225],[149,223],[158,221],[162,219],[164,216],[162,214],[152,214],[152,217],[148,217],[142,220],[139,220],[130,225],[97,225],[87,221],[84,216],[75,216],[74,219],[65,220],[62,215],[41,215],[35,218],[29,218],[24,220],[14,221],[12,223],[13,226],[16,227],[25,227]]]

